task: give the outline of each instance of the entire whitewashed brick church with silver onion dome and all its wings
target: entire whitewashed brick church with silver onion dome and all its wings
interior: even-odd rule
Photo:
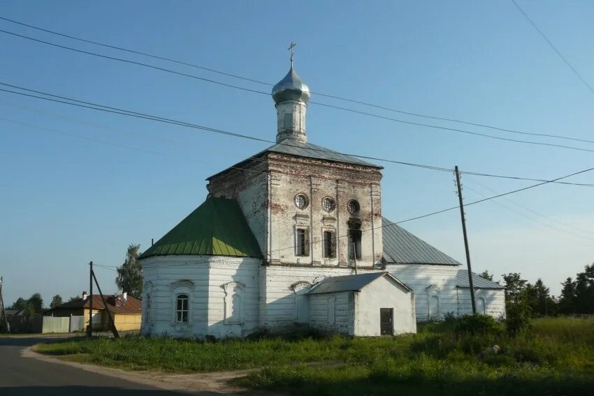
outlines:
[[[461,264],[382,217],[382,167],[307,142],[292,64],[272,96],[277,144],[210,176],[203,204],[140,256],[143,333],[391,335],[471,313]],[[505,314],[499,284],[473,283],[480,313]]]

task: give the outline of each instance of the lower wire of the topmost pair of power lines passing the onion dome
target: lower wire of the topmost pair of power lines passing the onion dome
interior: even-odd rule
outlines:
[[[124,63],[129,63],[129,64],[136,65],[136,66],[143,66],[143,67],[147,67],[147,68],[152,68],[154,70],[164,71],[166,73],[172,73],[174,75],[180,75],[182,77],[189,77],[189,78],[198,79],[198,80],[201,80],[201,81],[204,81],[204,82],[210,82],[212,84],[218,84],[218,85],[221,85],[221,86],[226,86],[228,88],[240,89],[241,91],[247,91],[247,92],[252,92],[252,93],[259,93],[259,94],[263,94],[263,95],[266,95],[266,96],[269,96],[270,95],[270,93],[268,93],[268,92],[258,91],[256,89],[249,89],[249,88],[245,88],[245,87],[242,87],[242,86],[236,86],[236,85],[233,85],[233,84],[226,84],[224,82],[218,82],[218,81],[216,81],[214,79],[208,79],[208,78],[198,77],[196,75],[190,75],[190,74],[187,74],[187,73],[181,73],[181,72],[178,72],[178,71],[175,71],[175,70],[161,68],[159,66],[152,66],[152,65],[149,65],[147,63],[141,63],[141,62],[137,62],[137,61],[130,61],[128,59],[117,58],[115,56],[108,56],[108,55],[103,55],[103,54],[96,54],[95,52],[78,50],[76,48],[67,47],[65,45],[59,45],[59,44],[56,44],[56,43],[50,43],[50,42],[45,41],[45,40],[39,40],[37,38],[31,38],[29,36],[23,36],[22,34],[17,34],[17,33],[13,33],[13,32],[10,32],[10,31],[5,31],[5,30],[1,30],[0,29],[0,32],[1,33],[9,34],[11,36],[16,36],[16,37],[24,38],[24,39],[27,39],[27,40],[36,41],[38,43],[43,43],[43,44],[46,44],[46,45],[52,45],[54,47],[59,47],[59,48],[62,48],[64,50],[71,50],[71,51],[79,52],[79,53],[82,53],[82,54],[88,54],[88,55],[92,55],[92,56],[98,56],[100,58],[110,59],[110,60],[113,60],[113,61],[122,61]],[[507,137],[499,137],[499,136],[494,136],[494,135],[488,135],[486,133],[472,132],[470,130],[462,130],[462,129],[458,129],[458,128],[448,128],[448,127],[444,127],[444,126],[440,126],[440,125],[432,125],[432,124],[426,124],[426,123],[416,123],[416,122],[412,122],[412,121],[405,121],[405,120],[401,120],[401,119],[394,119],[392,117],[380,116],[379,114],[372,114],[372,113],[368,113],[368,112],[361,112],[361,111],[358,111],[358,110],[355,110],[355,109],[349,109],[347,107],[340,107],[340,106],[328,105],[326,103],[314,102],[314,101],[311,101],[311,100],[310,100],[309,103],[310,104],[313,104],[313,105],[319,105],[319,106],[329,107],[329,108],[332,108],[332,109],[339,109],[339,110],[343,110],[343,111],[346,111],[346,112],[352,112],[352,113],[355,113],[355,114],[361,114],[361,115],[365,115],[365,116],[372,116],[372,117],[375,117],[377,119],[384,119],[384,120],[387,120],[387,121],[393,121],[393,122],[397,122],[397,123],[404,123],[406,125],[421,126],[421,127],[426,127],[426,128],[435,128],[435,129],[439,129],[439,130],[446,130],[448,132],[463,133],[463,134],[466,134],[466,135],[474,135],[474,136],[479,136],[479,137],[486,137],[488,139],[497,139],[497,140],[502,140],[502,141],[505,141],[505,142],[514,142],[514,143],[521,143],[521,144],[534,144],[534,145],[537,145],[537,146],[550,146],[550,147],[557,147],[557,148],[566,148],[566,149],[569,149],[569,150],[594,152],[594,150],[591,150],[591,149],[588,149],[588,148],[579,148],[579,147],[574,147],[574,146],[565,146],[563,144],[553,144],[553,143],[544,143],[544,142],[533,142],[533,141],[529,141],[529,140],[511,139],[511,138],[507,138]],[[594,141],[592,141],[592,143],[594,143]]]

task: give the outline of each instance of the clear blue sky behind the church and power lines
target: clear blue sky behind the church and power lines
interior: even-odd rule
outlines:
[[[590,1],[518,0],[594,84]],[[592,139],[594,94],[511,1],[3,1],[0,15],[45,29],[275,83],[286,50],[314,92],[502,128]],[[204,70],[77,43],[0,21],[0,29],[80,50],[268,91]],[[68,52],[0,33],[0,81],[273,140],[270,97]],[[312,96],[405,121],[521,137]],[[43,128],[43,129],[41,129]],[[593,153],[502,142],[310,105],[310,142],[347,153],[530,178],[593,166]],[[122,263],[129,243],[160,238],[205,198],[205,178],[267,144],[0,92],[0,274],[5,301],[46,303],[88,289],[93,260]],[[455,206],[449,173],[384,165],[382,210],[393,221]],[[594,183],[594,172],[570,179]],[[529,181],[465,176],[467,201]],[[471,206],[473,269],[558,283],[594,261],[592,188],[545,185]],[[502,206],[504,205],[504,206]],[[521,205],[521,206],[519,206]],[[459,213],[403,226],[464,260]],[[106,292],[115,273],[98,269]],[[496,276],[496,278],[499,276]]]

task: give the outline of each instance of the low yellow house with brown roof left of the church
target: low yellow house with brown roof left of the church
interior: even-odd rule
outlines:
[[[118,331],[140,330],[142,303],[138,298],[127,296],[126,293],[105,296],[105,298]],[[82,293],[82,298],[54,307],[43,314],[53,317],[83,316],[86,328],[89,325],[91,302],[93,303],[93,330],[110,330],[108,312],[99,294],[87,296],[85,291]]]

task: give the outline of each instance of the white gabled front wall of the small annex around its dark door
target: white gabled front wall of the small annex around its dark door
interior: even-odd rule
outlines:
[[[389,277],[379,277],[355,293],[354,335],[381,335],[380,308],[393,309],[393,333],[416,333],[414,294]]]

